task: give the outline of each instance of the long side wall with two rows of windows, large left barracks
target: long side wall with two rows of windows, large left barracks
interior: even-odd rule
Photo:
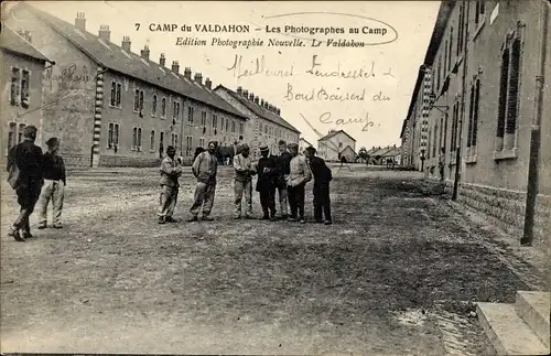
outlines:
[[[110,105],[112,82],[121,84],[120,107],[117,103],[116,106]],[[143,90],[142,117],[134,110],[137,89]],[[106,75],[104,90],[100,165],[156,165],[169,145],[174,145],[177,154],[184,158],[184,162],[191,163],[197,147],[206,148],[212,140],[217,140],[222,147],[230,147],[242,134],[239,131],[239,123],[244,123],[245,129],[244,118],[118,73],[109,72]],[[156,96],[155,110],[153,110],[154,96]],[[163,99],[165,99],[164,115]],[[175,103],[180,104],[180,110],[175,109]],[[193,108],[192,121],[190,108]],[[213,116],[217,118],[216,127],[213,126]],[[226,130],[227,120],[228,130]],[[235,122],[235,126],[231,122]],[[114,144],[109,144],[111,123],[119,126],[117,151]],[[141,142],[134,139],[134,128],[141,129]],[[153,140],[151,140],[152,133]]]

